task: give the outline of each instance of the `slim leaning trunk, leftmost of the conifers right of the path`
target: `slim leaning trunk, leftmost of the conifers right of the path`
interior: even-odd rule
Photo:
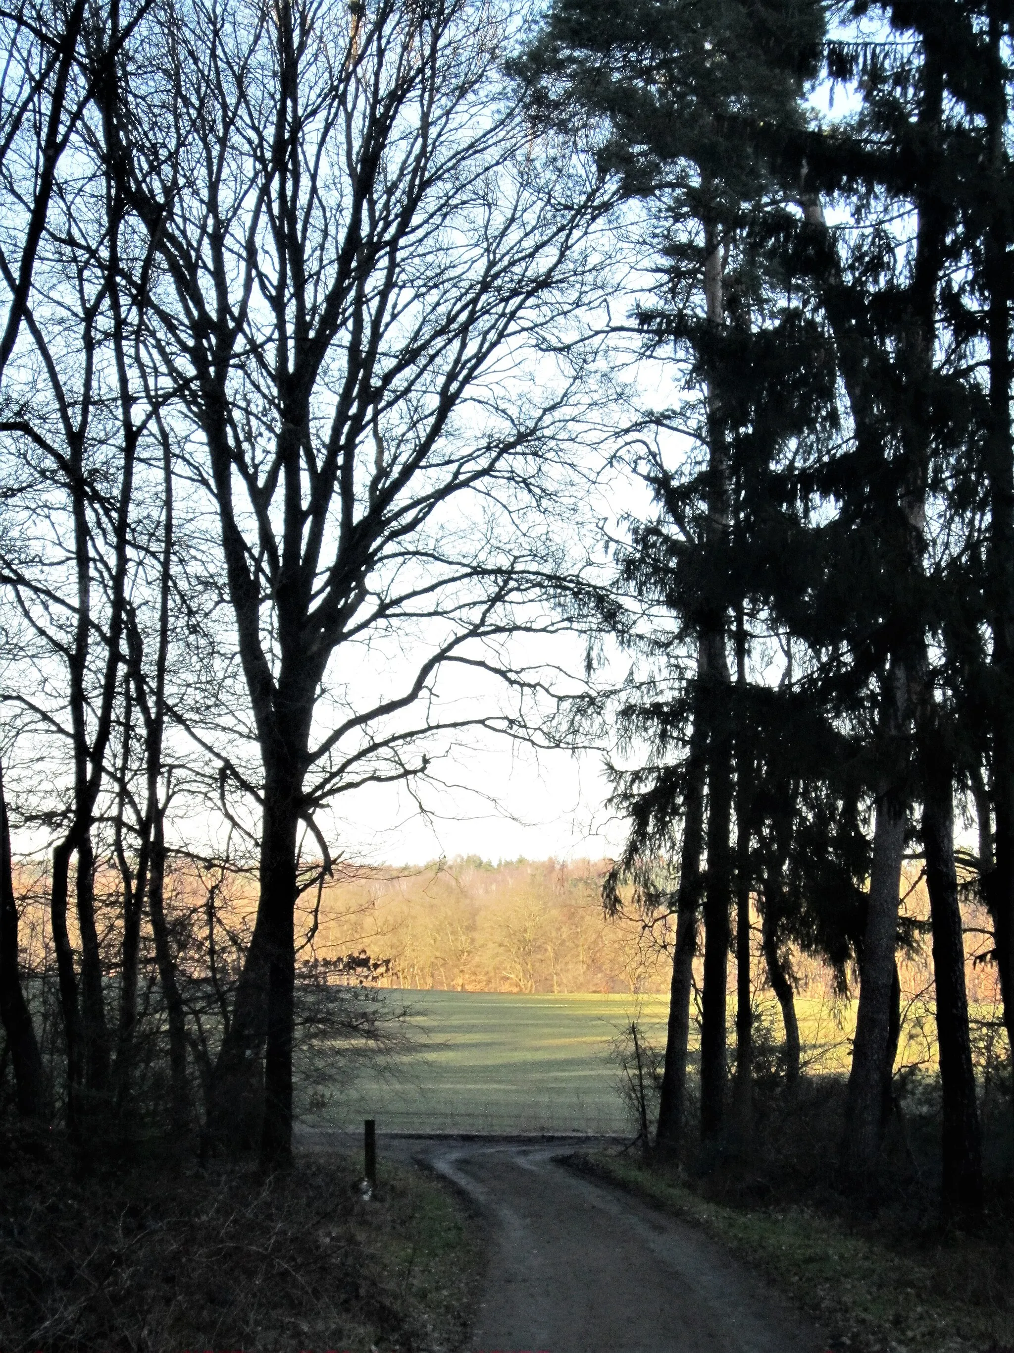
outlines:
[[[703,653],[698,659],[698,682],[703,674]],[[687,1043],[690,1040],[690,997],[694,982],[694,955],[698,947],[698,904],[700,897],[700,848],[704,839],[704,754],[706,733],[700,710],[694,713],[687,763],[687,790],[683,812],[683,850],[676,898],[676,947],[669,986],[669,1027],[665,1039],[665,1066],[658,1100],[656,1146],[677,1154],[683,1145],[683,1118],[687,1097]]]

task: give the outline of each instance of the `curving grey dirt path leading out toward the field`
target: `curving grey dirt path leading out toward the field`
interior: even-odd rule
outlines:
[[[408,1143],[406,1143],[407,1146]],[[470,1353],[821,1353],[700,1231],[576,1174],[556,1145],[416,1142],[492,1229]]]

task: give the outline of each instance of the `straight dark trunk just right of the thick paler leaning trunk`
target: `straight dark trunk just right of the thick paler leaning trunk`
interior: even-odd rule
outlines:
[[[933,927],[937,1042],[944,1092],[941,1204],[945,1216],[975,1218],[983,1207],[982,1139],[968,1032],[965,950],[955,869],[955,812],[949,767],[927,777],[922,848]]]

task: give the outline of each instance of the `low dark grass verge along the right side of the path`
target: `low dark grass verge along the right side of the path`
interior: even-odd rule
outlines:
[[[896,1243],[806,1207],[735,1207],[702,1197],[630,1155],[577,1168],[694,1222],[830,1331],[849,1353],[1014,1353],[1006,1237],[914,1234]]]

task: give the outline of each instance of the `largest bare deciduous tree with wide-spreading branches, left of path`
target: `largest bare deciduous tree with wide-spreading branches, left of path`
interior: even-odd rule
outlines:
[[[212,1128],[246,1100],[266,1162],[291,1150],[300,824],[326,869],[315,812],[426,767],[412,746],[454,723],[437,672],[495,670],[481,641],[544,582],[516,526],[564,391],[548,357],[526,388],[519,350],[580,299],[598,189],[533,157],[512,23],[472,0],[165,4],[99,81],[260,750],[256,778],[226,774],[261,805],[261,892]]]

